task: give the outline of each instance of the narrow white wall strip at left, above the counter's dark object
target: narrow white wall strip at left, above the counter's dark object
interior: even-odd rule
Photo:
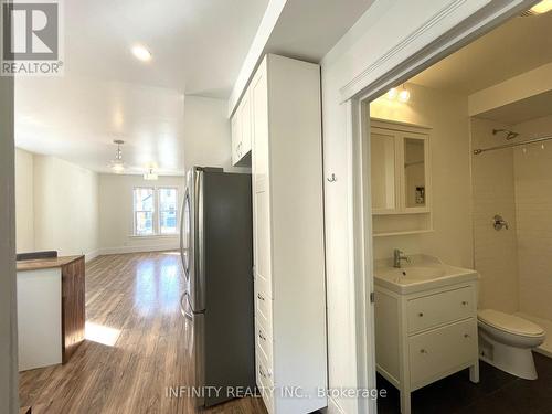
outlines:
[[[15,241],[18,253],[34,251],[33,155],[15,148]]]

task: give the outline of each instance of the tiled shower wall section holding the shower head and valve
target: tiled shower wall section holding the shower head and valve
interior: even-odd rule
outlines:
[[[471,146],[497,144],[493,128],[505,125],[471,119]],[[474,261],[479,272],[479,308],[507,312],[519,310],[518,246],[516,238],[516,194],[512,150],[473,156]],[[501,214],[510,230],[497,232],[495,214]]]

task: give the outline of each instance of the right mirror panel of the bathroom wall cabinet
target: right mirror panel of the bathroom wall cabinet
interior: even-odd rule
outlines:
[[[426,206],[425,140],[404,138],[404,199],[406,208]]]

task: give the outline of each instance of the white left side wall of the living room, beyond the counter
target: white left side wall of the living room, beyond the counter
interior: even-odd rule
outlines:
[[[33,158],[34,248],[94,257],[98,250],[97,173],[54,157]]]

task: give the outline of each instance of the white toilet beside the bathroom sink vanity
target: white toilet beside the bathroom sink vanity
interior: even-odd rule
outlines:
[[[546,332],[537,323],[493,309],[477,312],[479,358],[512,375],[537,380],[532,350]]]

